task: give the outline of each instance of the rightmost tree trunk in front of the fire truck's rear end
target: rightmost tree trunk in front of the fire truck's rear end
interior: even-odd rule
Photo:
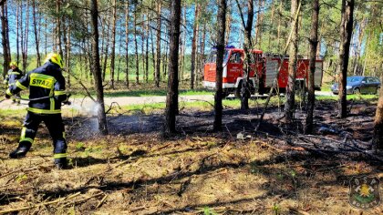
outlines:
[[[319,0],[313,1],[313,13],[311,15],[311,33],[310,33],[310,72],[308,73],[308,97],[307,97],[307,116],[305,118],[305,133],[313,132],[314,107],[316,94],[314,87],[314,77],[316,72],[316,48],[318,45],[318,22],[319,22]]]

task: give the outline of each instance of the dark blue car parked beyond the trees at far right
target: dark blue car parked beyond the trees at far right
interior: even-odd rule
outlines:
[[[347,77],[347,94],[378,94],[380,80],[378,77]],[[331,86],[334,94],[339,93],[338,83]]]

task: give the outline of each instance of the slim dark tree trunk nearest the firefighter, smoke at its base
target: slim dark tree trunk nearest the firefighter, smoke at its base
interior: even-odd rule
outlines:
[[[102,87],[101,67],[99,65],[99,52],[98,52],[98,1],[91,0],[90,15],[91,15],[91,28],[92,28],[92,64],[91,71],[95,77],[95,87],[97,92],[98,101],[98,131],[102,135],[108,135],[107,116],[105,114],[104,104],[104,89]]]

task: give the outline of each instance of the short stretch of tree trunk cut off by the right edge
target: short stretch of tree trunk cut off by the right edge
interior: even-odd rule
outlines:
[[[374,136],[372,138],[372,144],[375,145],[376,148],[383,149],[383,87],[380,87],[377,113],[374,121]]]

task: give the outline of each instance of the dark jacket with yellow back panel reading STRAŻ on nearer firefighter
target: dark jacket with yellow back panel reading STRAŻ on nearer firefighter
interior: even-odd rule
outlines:
[[[65,78],[60,67],[48,61],[41,67],[26,73],[10,86],[6,94],[11,96],[29,87],[28,111],[36,114],[59,114],[61,103],[67,102]]]

